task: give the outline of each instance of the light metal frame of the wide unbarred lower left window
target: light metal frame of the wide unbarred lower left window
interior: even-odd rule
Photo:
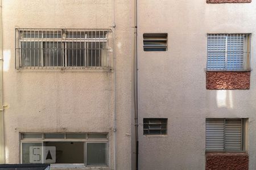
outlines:
[[[29,132],[31,133],[31,132]],[[53,133],[53,132],[51,132]],[[65,134],[64,139],[53,139],[53,138],[44,138],[44,134],[49,134],[49,133],[34,133],[32,132],[31,134],[42,134],[42,138],[23,138],[23,134],[28,134],[27,132],[20,132],[19,137],[20,137],[20,164],[22,164],[22,156],[23,156],[23,143],[41,143],[42,146],[44,146],[44,142],[83,142],[84,143],[84,163],[74,163],[74,164],[65,164],[65,163],[53,163],[51,164],[52,167],[109,167],[109,133],[59,133],[59,134]],[[71,139],[67,138],[66,134],[86,134],[85,139]],[[106,134],[106,138],[88,138],[88,134]],[[106,143],[106,164],[95,164],[95,165],[88,165],[87,164],[87,143]],[[44,156],[43,152],[42,155]]]

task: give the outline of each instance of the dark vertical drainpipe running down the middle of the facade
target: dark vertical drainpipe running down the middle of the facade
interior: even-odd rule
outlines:
[[[136,139],[136,169],[139,169],[139,137],[138,137],[138,0],[135,0],[135,49],[134,49],[134,124]]]

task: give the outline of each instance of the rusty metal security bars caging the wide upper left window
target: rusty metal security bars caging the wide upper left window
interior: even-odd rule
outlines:
[[[110,29],[15,31],[16,69],[110,69]]]

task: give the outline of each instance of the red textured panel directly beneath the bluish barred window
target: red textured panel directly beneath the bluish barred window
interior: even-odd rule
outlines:
[[[208,90],[250,89],[250,72],[211,72],[206,73]]]

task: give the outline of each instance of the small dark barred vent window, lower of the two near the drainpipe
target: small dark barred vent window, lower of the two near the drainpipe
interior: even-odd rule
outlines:
[[[167,118],[143,118],[143,134],[167,134]]]

